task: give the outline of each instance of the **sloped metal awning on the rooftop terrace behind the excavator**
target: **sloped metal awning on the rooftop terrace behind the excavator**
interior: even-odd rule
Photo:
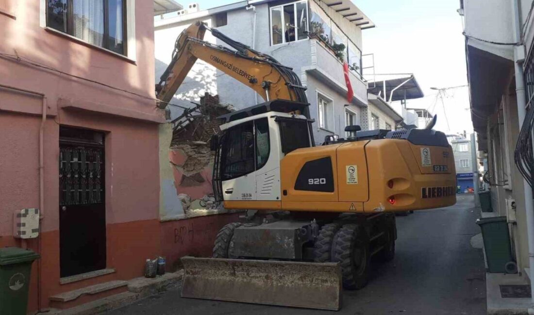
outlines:
[[[406,83],[402,84],[403,82]],[[386,84],[385,97],[383,95],[384,83]],[[369,82],[369,86],[370,87],[367,89],[368,93],[375,95],[379,95],[380,93],[382,98],[387,99],[388,101],[390,98],[391,91],[393,90],[395,91],[393,92],[391,101],[420,99],[425,96],[413,75],[411,77],[377,80],[376,82]]]

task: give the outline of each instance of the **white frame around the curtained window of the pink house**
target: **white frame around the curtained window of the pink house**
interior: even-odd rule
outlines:
[[[56,33],[61,36],[67,37],[73,42],[82,43],[83,45],[87,45],[87,46],[90,46],[91,48],[104,51],[106,53],[115,55],[119,58],[129,60],[132,62],[137,62],[137,48],[136,48],[137,38],[136,38],[136,31],[135,31],[135,11],[136,11],[135,2],[136,0],[124,0],[124,1],[126,2],[126,11],[124,12],[124,14],[126,15],[126,38],[124,38],[124,41],[126,42],[125,54],[120,54],[120,53],[105,49],[104,47],[89,44],[83,39],[74,37],[67,33],[63,33],[62,31],[59,31],[57,29],[46,26],[46,6],[48,5],[48,0],[40,1],[39,26],[46,29],[47,31],[50,31],[51,33]]]

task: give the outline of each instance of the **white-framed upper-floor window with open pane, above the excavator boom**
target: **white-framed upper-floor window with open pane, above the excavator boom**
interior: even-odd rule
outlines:
[[[271,45],[308,38],[308,2],[271,7]]]

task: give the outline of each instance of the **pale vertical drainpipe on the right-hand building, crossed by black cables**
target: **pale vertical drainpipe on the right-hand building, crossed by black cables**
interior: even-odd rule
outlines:
[[[513,1],[513,12],[512,15],[514,21],[514,30],[515,30],[515,42],[521,42],[521,22],[520,22],[520,13],[519,9],[520,3],[519,0]],[[523,120],[527,114],[525,109],[527,98],[525,97],[525,82],[523,77],[523,66],[520,62],[519,56],[523,55],[520,50],[523,50],[524,46],[514,46],[514,67],[515,67],[515,93],[517,96],[517,116],[519,118],[519,126],[523,125]],[[529,183],[523,179],[523,192],[525,196],[525,213],[527,214],[527,236],[528,236],[528,247],[529,247],[529,278],[530,278],[530,287],[534,288],[534,204],[532,200],[532,188]],[[532,290],[534,293],[534,290]],[[532,303],[534,303],[534,295],[531,295]],[[529,314],[534,311],[529,309]]]

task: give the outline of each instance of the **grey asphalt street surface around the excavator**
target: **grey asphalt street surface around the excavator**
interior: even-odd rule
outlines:
[[[397,217],[393,261],[375,264],[369,284],[345,291],[335,314],[485,314],[482,249],[469,240],[480,233],[473,196],[455,206]],[[180,298],[180,288],[108,312],[122,314],[334,314],[279,306]]]

